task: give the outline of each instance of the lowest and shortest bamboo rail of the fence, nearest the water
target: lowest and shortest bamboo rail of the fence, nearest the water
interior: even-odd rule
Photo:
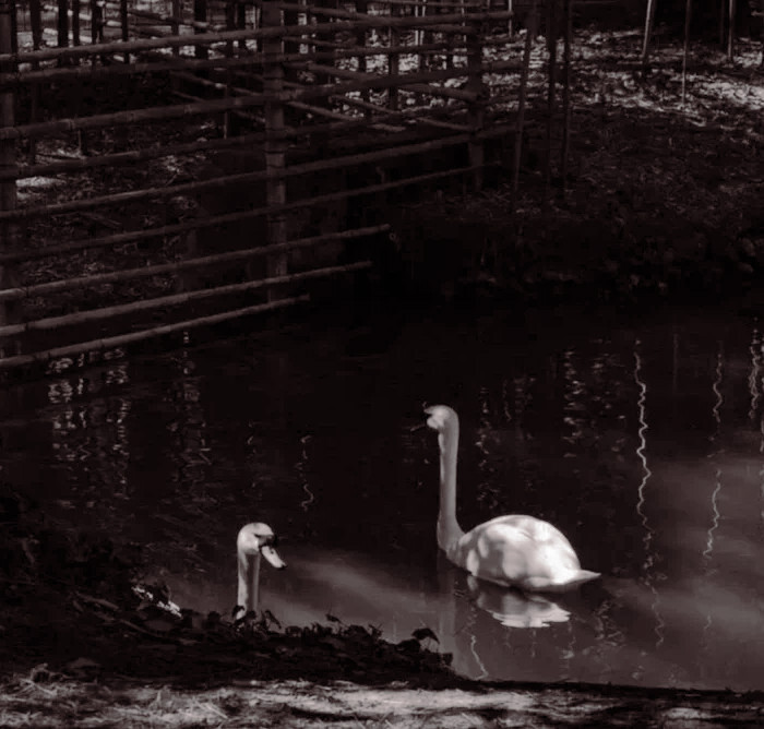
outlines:
[[[298,303],[306,303],[308,301],[310,301],[310,296],[297,296],[289,299],[270,301],[268,303],[258,303],[251,307],[244,307],[242,309],[232,309],[230,311],[224,311],[218,314],[211,314],[208,316],[188,319],[182,322],[176,322],[174,324],[164,324],[162,326],[155,326],[153,328],[142,330],[140,332],[131,332],[130,334],[121,334],[118,336],[104,337],[100,339],[92,339],[89,342],[79,342],[76,344],[67,345],[64,347],[55,347],[52,349],[46,349],[45,351],[37,351],[31,355],[17,355],[15,357],[0,358],[0,368],[9,369],[13,367],[34,364],[35,362],[44,363],[52,359],[70,357],[72,355],[81,355],[86,351],[109,349],[110,347],[123,347],[129,344],[135,344],[138,342],[145,342],[146,339],[156,338],[167,334],[174,334],[175,332],[183,332],[186,330],[195,328],[198,326],[219,324],[222,322],[230,321],[232,319],[240,319],[242,316],[249,316],[251,314],[275,311],[285,307],[290,307]]]

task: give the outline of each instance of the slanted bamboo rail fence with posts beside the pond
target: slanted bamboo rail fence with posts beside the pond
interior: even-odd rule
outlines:
[[[371,268],[391,204],[479,188],[516,131],[511,19],[470,0],[0,0],[0,368]]]

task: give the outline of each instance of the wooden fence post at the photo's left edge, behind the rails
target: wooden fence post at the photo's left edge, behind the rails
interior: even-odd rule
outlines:
[[[12,0],[0,0],[0,53],[10,53],[13,47],[11,12]],[[7,61],[0,64],[0,73],[13,73],[15,64]],[[15,98],[12,88],[0,91],[0,128],[13,127]],[[0,171],[9,172],[16,168],[16,143],[13,139],[0,140]],[[0,211],[10,212],[16,207],[16,180],[14,177],[0,180]],[[12,220],[0,222],[0,251],[10,253],[16,247],[17,226]],[[14,288],[17,285],[15,264],[0,266],[0,288]],[[17,303],[0,304],[0,323],[13,324],[17,321]],[[4,351],[2,354],[5,354]]]

